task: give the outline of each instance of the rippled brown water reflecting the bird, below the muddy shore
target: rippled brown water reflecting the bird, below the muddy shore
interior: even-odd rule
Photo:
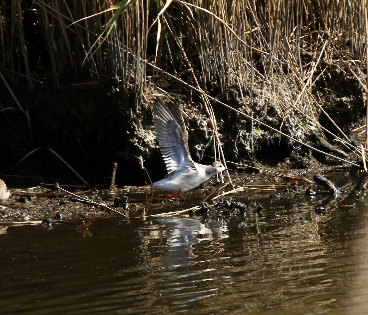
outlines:
[[[71,223],[10,226],[0,235],[0,313],[367,314],[364,194],[229,198],[247,215],[104,219],[91,236]]]

